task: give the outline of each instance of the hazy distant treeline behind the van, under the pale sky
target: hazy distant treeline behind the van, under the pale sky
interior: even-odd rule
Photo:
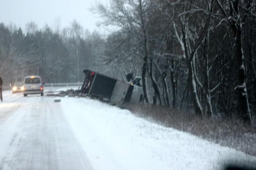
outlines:
[[[104,40],[73,21],[60,30],[36,23],[26,31],[0,23],[0,76],[5,84],[22,81],[26,75],[40,75],[44,82],[83,81],[83,68],[93,68]]]

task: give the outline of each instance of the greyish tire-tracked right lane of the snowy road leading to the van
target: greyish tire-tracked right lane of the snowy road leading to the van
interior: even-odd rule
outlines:
[[[32,97],[26,101],[33,102],[23,109],[18,132],[13,134],[0,169],[93,169],[61,105],[53,98]]]

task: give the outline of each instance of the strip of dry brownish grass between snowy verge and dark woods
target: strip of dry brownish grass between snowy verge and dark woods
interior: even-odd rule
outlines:
[[[166,127],[191,133],[203,139],[232,147],[246,154],[256,156],[256,132],[240,122],[219,119],[199,119],[170,107],[126,103],[124,106],[139,117]]]

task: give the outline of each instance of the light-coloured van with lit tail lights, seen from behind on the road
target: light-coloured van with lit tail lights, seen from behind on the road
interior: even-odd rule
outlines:
[[[43,83],[40,76],[26,76],[24,79],[24,97],[28,94],[43,95]]]

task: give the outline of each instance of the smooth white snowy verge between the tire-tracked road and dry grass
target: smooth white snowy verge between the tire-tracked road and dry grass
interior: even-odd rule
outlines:
[[[62,98],[69,125],[101,170],[218,170],[256,157],[165,128],[88,98]]]

